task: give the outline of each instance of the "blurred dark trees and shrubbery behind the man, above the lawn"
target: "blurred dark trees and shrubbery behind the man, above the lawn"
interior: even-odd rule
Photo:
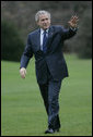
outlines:
[[[1,1],[2,60],[20,61],[28,33],[37,28],[34,16],[38,10],[51,13],[51,25],[65,27],[77,14],[78,34],[65,42],[63,52],[92,58],[92,1]]]

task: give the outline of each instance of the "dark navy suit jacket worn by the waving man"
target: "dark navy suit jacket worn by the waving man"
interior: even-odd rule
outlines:
[[[40,50],[40,29],[28,34],[27,45],[21,58],[21,67],[26,67],[30,59],[35,57],[37,83],[47,80],[47,67],[55,80],[68,76],[67,64],[62,54],[62,46],[66,39],[71,38],[77,30],[65,29],[62,26],[50,26],[47,41],[47,53]]]

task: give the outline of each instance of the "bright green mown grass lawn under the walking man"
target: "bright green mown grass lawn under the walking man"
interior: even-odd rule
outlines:
[[[63,79],[60,103],[60,133],[48,136],[92,136],[92,61],[65,55],[69,77]],[[20,63],[1,62],[1,135],[46,136],[47,115],[36,83],[34,59],[26,78]]]

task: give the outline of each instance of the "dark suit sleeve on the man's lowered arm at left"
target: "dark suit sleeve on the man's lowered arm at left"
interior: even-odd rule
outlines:
[[[27,42],[26,42],[26,47],[24,49],[24,52],[22,54],[22,58],[21,58],[21,67],[27,67],[27,64],[30,62],[30,59],[33,57],[33,50],[32,50],[32,43],[31,43],[31,40],[30,40],[31,36],[28,35],[27,37]]]

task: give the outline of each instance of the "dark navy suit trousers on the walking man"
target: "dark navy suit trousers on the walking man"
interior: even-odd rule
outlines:
[[[54,80],[53,76],[47,68],[47,83],[38,84],[40,89],[40,95],[44,100],[46,112],[48,115],[48,128],[58,129],[60,128],[59,120],[59,91],[61,87],[61,80]]]

